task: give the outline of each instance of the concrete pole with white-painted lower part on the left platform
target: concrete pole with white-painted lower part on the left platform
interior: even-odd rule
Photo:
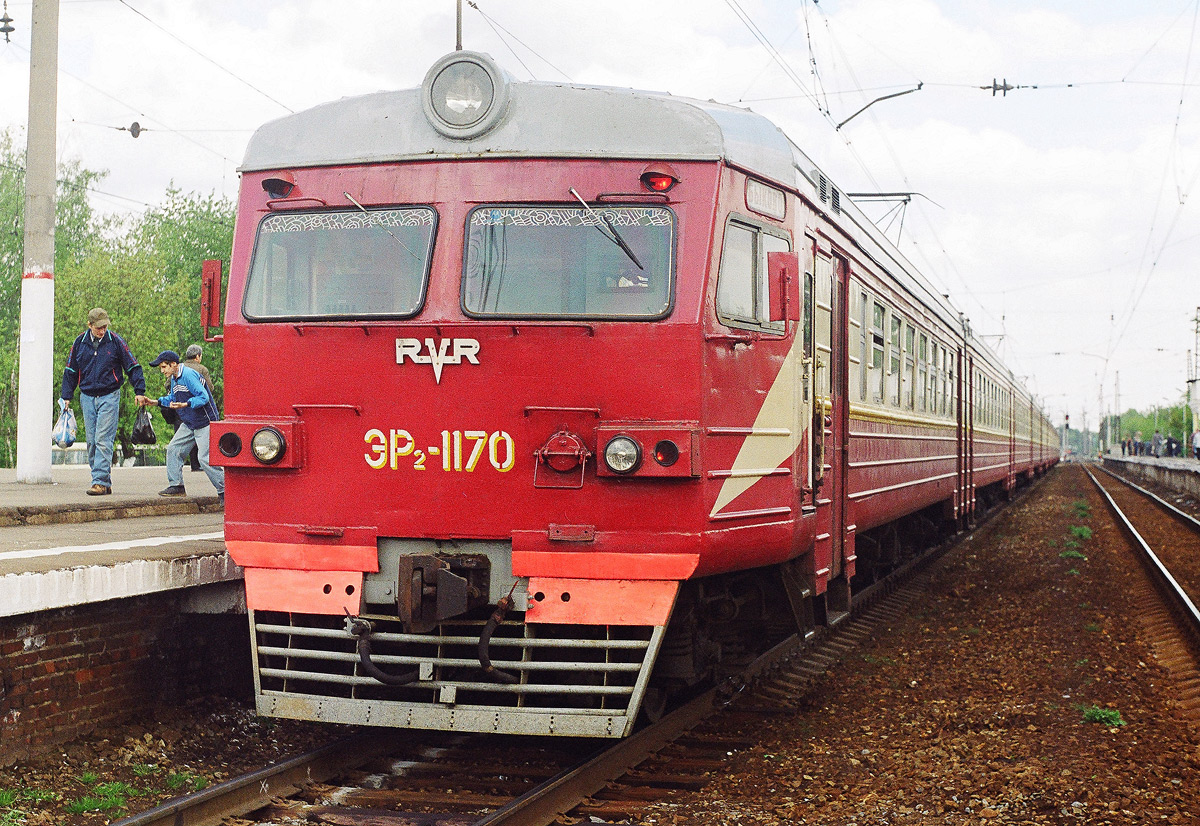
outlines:
[[[34,0],[25,150],[25,267],[20,281],[17,481],[49,484],[54,429],[54,173],[59,0]],[[91,438],[91,433],[88,433]]]

